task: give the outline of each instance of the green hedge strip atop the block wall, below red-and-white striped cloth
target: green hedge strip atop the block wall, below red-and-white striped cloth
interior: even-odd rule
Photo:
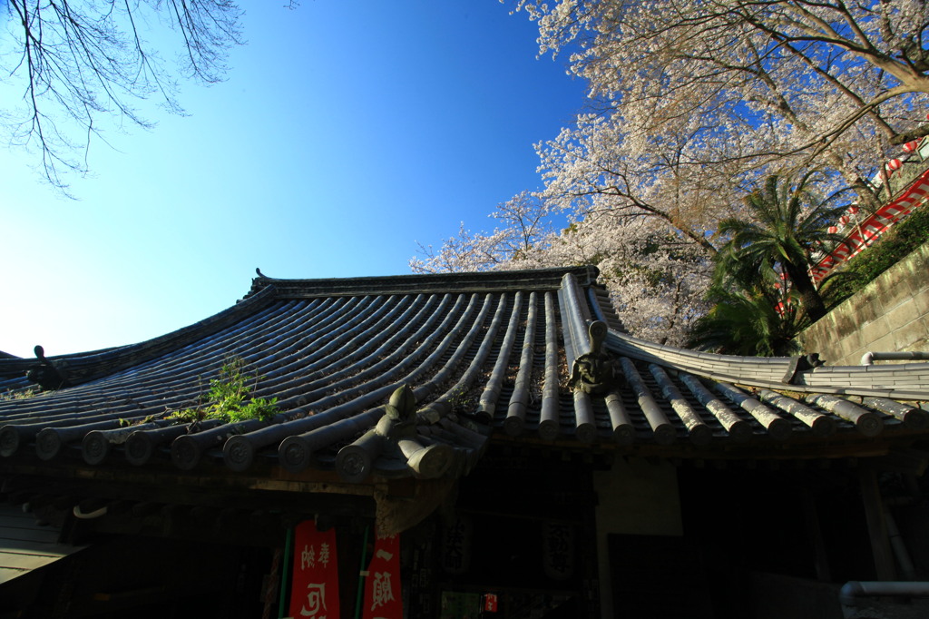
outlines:
[[[831,275],[831,281],[824,286],[830,305],[834,307],[854,295],[927,241],[929,207],[922,206]]]

